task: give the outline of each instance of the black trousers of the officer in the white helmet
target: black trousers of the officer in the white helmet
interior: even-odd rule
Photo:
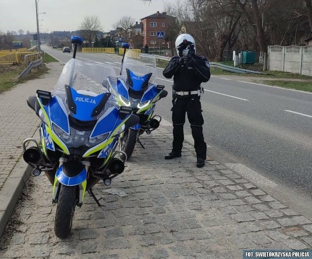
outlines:
[[[200,97],[174,98],[172,104],[172,122],[174,126],[172,151],[181,153],[184,140],[183,126],[185,123],[185,113],[187,113],[188,120],[191,124],[196,157],[206,159],[207,145],[203,135],[202,125],[204,124],[204,119],[201,114]]]

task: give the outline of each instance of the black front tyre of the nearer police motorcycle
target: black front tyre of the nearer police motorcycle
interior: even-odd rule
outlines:
[[[60,239],[66,239],[72,228],[77,204],[76,194],[77,186],[61,185],[54,222],[54,232]]]

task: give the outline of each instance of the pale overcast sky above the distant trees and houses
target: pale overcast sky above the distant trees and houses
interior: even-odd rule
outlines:
[[[38,0],[37,0],[38,1]],[[122,16],[141,18],[164,11],[174,0],[39,0],[40,32],[76,31],[84,16],[98,16],[104,31]],[[37,31],[36,0],[0,0],[0,31]]]

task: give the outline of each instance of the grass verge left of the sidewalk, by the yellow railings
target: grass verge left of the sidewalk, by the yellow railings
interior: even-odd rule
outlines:
[[[42,57],[43,64],[39,69],[33,68],[31,72],[26,75],[24,78],[17,80],[18,76],[22,71],[25,70],[25,64],[19,65],[0,65],[0,93],[10,90],[12,87],[25,82],[27,80],[32,80],[39,78],[43,74],[48,72],[48,68],[45,66],[45,63],[56,62],[50,55],[46,54]]]

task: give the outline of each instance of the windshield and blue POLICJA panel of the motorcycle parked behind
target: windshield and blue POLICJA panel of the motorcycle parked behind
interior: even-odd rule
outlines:
[[[148,83],[156,80],[156,58],[153,54],[137,53],[134,50],[127,50],[121,76],[127,78],[130,86],[135,91],[144,90]]]

